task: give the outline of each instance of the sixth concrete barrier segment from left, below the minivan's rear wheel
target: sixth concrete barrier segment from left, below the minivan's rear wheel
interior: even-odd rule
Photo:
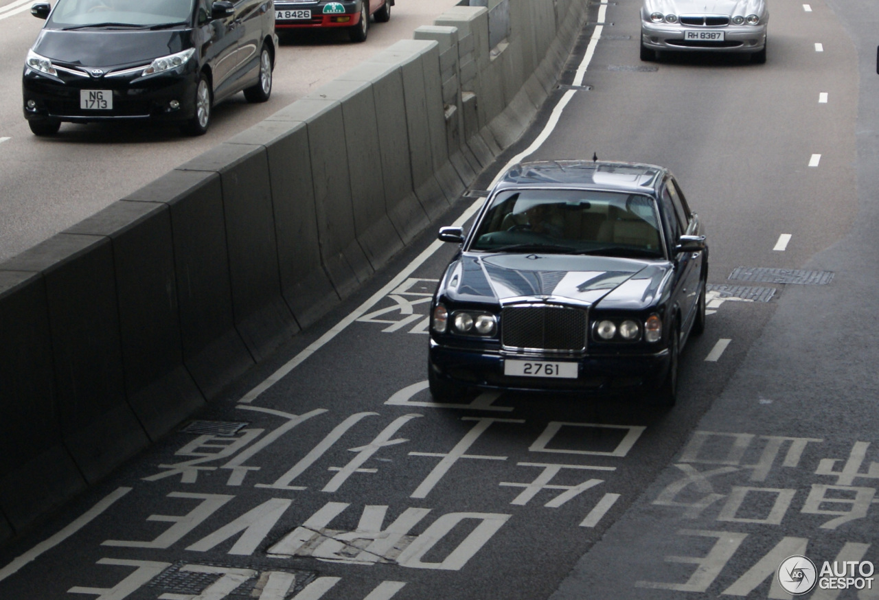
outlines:
[[[308,127],[303,121],[262,121],[228,143],[266,148],[281,293],[305,329],[340,301],[321,261]]]

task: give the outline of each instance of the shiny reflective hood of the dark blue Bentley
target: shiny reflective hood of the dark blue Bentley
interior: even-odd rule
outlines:
[[[450,265],[450,300],[499,303],[515,298],[573,300],[637,309],[650,306],[672,264],[557,254],[465,254]]]

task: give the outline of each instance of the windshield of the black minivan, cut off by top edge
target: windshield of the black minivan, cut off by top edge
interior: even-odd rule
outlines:
[[[59,28],[184,24],[195,0],[58,0],[49,22]]]

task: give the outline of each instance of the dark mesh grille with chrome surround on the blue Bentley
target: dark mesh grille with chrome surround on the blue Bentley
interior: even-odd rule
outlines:
[[[558,306],[506,307],[501,343],[510,350],[584,351],[586,311]]]

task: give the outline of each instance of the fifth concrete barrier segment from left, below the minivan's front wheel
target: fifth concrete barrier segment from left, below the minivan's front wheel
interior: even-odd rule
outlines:
[[[265,147],[223,143],[178,169],[220,175],[232,310],[238,333],[259,362],[299,331],[280,292]]]

